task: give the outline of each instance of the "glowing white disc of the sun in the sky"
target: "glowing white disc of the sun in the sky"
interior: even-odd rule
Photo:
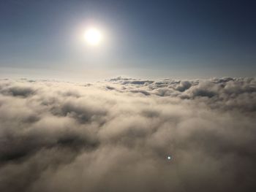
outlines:
[[[99,45],[102,41],[102,33],[97,28],[89,28],[86,30],[84,38],[89,45]]]

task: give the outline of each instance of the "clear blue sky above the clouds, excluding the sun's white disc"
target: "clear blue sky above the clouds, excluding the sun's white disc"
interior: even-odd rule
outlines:
[[[0,77],[245,77],[256,2],[1,0]],[[99,47],[80,39],[104,31]]]

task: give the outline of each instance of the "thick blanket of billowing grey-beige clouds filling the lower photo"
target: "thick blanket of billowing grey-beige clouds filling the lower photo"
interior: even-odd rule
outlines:
[[[0,191],[255,191],[255,125],[255,78],[0,80]]]

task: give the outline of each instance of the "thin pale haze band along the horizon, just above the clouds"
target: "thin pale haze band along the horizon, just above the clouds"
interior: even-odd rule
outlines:
[[[246,69],[247,70],[247,69]],[[250,75],[249,75],[250,74]],[[161,69],[136,69],[136,68],[124,68],[124,69],[107,69],[105,67],[80,69],[80,71],[74,69],[47,69],[47,68],[18,68],[18,67],[0,67],[0,78],[28,78],[34,80],[62,80],[71,82],[84,82],[84,81],[102,81],[108,80],[113,77],[133,77],[137,79],[150,79],[161,80],[165,78],[183,79],[183,80],[195,80],[202,79],[207,80],[211,78],[221,77],[256,77],[254,70],[233,72],[232,69],[217,72],[209,70],[209,72],[203,72],[200,69],[194,71],[184,71],[181,69],[173,69],[173,71],[165,68]]]

